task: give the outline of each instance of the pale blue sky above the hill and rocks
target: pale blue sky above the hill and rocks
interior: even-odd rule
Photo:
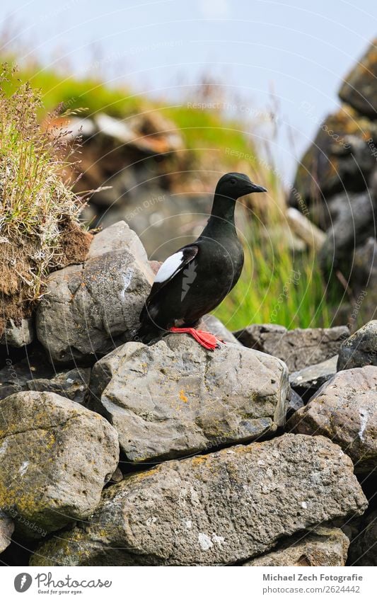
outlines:
[[[282,117],[274,154],[286,178],[377,34],[376,0],[1,0],[0,18],[45,64],[97,69],[168,101],[197,100],[190,84],[207,73],[250,117],[273,90]]]

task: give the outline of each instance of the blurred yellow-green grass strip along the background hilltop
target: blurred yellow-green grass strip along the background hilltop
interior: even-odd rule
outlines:
[[[11,62],[10,57],[8,62]],[[18,79],[24,84],[28,81],[35,90],[40,90],[40,118],[56,110],[64,112],[76,109],[81,109],[82,115],[95,115],[103,111],[115,118],[127,118],[158,108],[178,127],[187,149],[213,147],[225,153],[228,147],[248,154],[252,151],[250,138],[243,133],[243,125],[224,119],[219,110],[190,108],[186,102],[178,106],[166,106],[163,101],[151,101],[144,94],[134,93],[126,86],[110,87],[93,76],[82,79],[63,76],[33,62],[18,69]],[[16,86],[16,82],[11,81],[5,90],[11,93]],[[228,157],[227,160],[236,163],[236,158],[232,161],[232,157]]]

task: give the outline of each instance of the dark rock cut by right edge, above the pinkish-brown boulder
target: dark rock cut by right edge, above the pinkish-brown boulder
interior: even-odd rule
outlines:
[[[377,365],[377,319],[369,321],[347,340],[339,350],[338,370]]]

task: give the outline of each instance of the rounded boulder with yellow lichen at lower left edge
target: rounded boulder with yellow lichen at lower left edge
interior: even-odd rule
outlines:
[[[118,458],[114,428],[74,401],[32,391],[0,401],[0,509],[25,537],[88,517]]]

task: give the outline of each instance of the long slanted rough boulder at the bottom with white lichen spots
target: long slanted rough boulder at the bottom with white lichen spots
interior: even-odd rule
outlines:
[[[366,505],[340,447],[284,435],[128,476],[104,491],[90,524],[46,542],[30,564],[221,566]]]

